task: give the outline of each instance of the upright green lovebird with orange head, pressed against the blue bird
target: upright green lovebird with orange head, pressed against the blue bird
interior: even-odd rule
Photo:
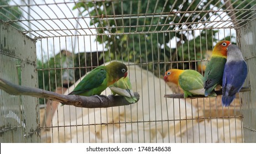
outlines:
[[[210,62],[206,65],[203,83],[205,96],[208,96],[217,85],[222,85],[224,65],[227,61],[227,47],[229,41],[218,42],[212,51]]]

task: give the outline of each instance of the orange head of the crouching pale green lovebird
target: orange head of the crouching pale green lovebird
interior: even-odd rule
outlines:
[[[184,70],[181,69],[169,69],[165,72],[164,80],[165,82],[171,82],[176,85],[179,85],[179,76],[180,74],[184,72]]]

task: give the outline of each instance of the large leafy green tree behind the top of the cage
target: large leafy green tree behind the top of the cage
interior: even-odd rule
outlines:
[[[213,5],[222,9],[232,6],[223,1],[81,1],[74,9],[81,15],[90,15],[91,25],[97,27],[96,41],[105,43],[109,53],[105,60],[123,59],[135,63],[149,64],[153,72],[166,69],[193,67],[186,61],[196,61],[216,43],[218,30],[206,27]],[[243,8],[240,1],[231,1],[234,7]],[[252,3],[247,5],[250,6]],[[193,12],[197,10],[197,12]],[[202,10],[202,12],[200,12]],[[160,16],[159,16],[160,15]],[[144,18],[147,17],[147,18]],[[242,17],[239,17],[242,18]],[[195,31],[197,27],[201,28]],[[202,28],[203,27],[203,28]],[[229,37],[230,38],[230,37]],[[176,39],[176,47],[170,48],[170,40]],[[103,56],[102,56],[103,57]],[[175,64],[177,62],[177,64]],[[174,65],[175,64],[175,65]],[[157,74],[157,73],[156,73]]]

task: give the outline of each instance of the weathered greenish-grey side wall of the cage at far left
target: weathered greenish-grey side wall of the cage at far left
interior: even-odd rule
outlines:
[[[0,21],[0,78],[37,87],[35,42]],[[40,142],[38,99],[0,90],[0,142]]]

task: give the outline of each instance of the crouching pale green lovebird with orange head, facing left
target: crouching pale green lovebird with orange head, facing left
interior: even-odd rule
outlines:
[[[181,87],[184,91],[184,98],[192,95],[205,95],[203,76],[195,70],[170,69],[165,72],[164,80]],[[215,92],[211,92],[210,95],[216,96]]]

